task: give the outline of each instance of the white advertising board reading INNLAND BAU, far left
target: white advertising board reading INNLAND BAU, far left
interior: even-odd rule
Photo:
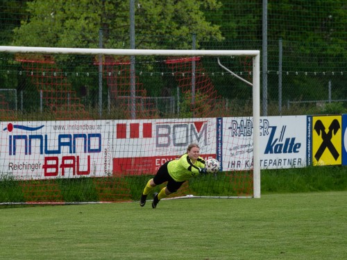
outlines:
[[[16,180],[112,172],[110,121],[1,122],[2,175]]]

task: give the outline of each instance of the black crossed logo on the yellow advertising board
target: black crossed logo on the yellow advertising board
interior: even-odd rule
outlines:
[[[319,146],[316,154],[314,155],[314,158],[316,158],[317,161],[321,158],[326,148],[330,150],[330,153],[332,156],[337,160],[339,158],[339,153],[337,152],[334,144],[332,144],[332,134],[336,135],[337,131],[340,129],[340,123],[337,121],[337,119],[334,119],[332,123],[329,126],[329,131],[325,132],[325,126],[323,125],[321,120],[316,121],[314,124],[314,130],[316,130],[318,135],[321,135],[323,142],[321,146]]]

